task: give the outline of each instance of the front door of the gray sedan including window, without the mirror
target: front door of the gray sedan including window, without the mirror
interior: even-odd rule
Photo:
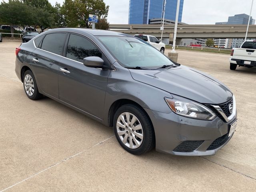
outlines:
[[[110,70],[86,67],[83,58],[101,57],[110,66],[96,44],[85,36],[69,34],[58,76],[60,100],[98,118],[103,118],[105,92]]]

